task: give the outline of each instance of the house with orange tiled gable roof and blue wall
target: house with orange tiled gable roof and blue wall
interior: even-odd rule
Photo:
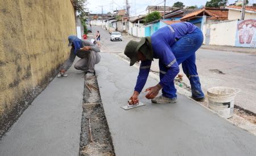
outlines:
[[[205,7],[183,16],[180,20],[193,23],[201,28],[205,22],[212,23],[228,20],[228,9]]]

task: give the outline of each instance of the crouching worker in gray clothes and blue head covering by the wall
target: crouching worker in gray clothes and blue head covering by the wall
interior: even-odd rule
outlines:
[[[57,77],[67,77],[68,75],[65,72],[70,68],[73,64],[76,56],[81,58],[75,64],[75,69],[85,71],[86,75],[94,75],[94,66],[98,64],[101,60],[100,48],[97,45],[94,45],[88,40],[81,40],[76,36],[68,36],[69,44],[68,46],[72,46],[69,58],[63,64],[60,73]]]

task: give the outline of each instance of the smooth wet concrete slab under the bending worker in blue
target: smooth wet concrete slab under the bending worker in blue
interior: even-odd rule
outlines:
[[[256,137],[178,94],[175,104],[152,104],[125,111],[138,69],[116,55],[101,53],[98,85],[116,155],[255,155]],[[156,85],[148,77],[146,87]]]

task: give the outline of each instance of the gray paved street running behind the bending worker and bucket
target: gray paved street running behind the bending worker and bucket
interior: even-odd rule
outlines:
[[[93,29],[99,29],[101,32],[102,52],[123,53],[125,45],[129,40],[139,40],[132,36],[123,36],[123,41],[112,42],[107,31],[97,26],[93,26]],[[214,86],[241,88],[235,103],[242,108],[256,113],[255,54],[199,49],[196,62],[205,94],[207,94],[208,88]],[[154,60],[151,69],[159,71],[158,60]],[[218,74],[218,71],[224,74]],[[182,70],[180,72],[183,73]],[[187,78],[184,78],[184,82],[189,84]]]

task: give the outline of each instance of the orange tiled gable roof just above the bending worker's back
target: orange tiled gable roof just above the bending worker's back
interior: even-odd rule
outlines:
[[[194,12],[191,12],[183,18],[181,18],[181,21],[193,19],[196,16],[199,16],[201,13],[205,12],[210,18],[208,19],[228,19],[228,10],[227,9],[214,9],[214,8],[203,8],[201,10],[197,10]]]

